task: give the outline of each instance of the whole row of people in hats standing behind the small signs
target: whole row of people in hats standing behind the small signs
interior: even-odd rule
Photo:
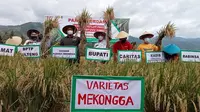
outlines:
[[[67,25],[63,27],[62,31],[67,35],[66,37],[62,38],[60,40],[60,46],[76,46],[79,48],[79,44],[81,41],[81,38],[75,36],[74,34],[77,33],[77,28],[74,25]],[[25,41],[23,45],[40,45],[42,40],[42,35],[38,30],[31,29],[27,32],[27,36],[29,37],[28,40]],[[113,59],[114,61],[117,61],[117,53],[118,50],[140,50],[142,51],[142,60],[145,60],[145,52],[148,51],[161,51],[161,44],[162,42],[159,42],[159,45],[154,45],[150,43],[150,39],[154,37],[152,33],[149,33],[145,31],[139,39],[143,41],[140,45],[138,45],[137,48],[134,48],[127,39],[129,34],[125,31],[119,32],[119,34],[116,36],[116,38],[119,39],[118,42],[114,43],[112,46],[113,51]],[[98,39],[98,42],[94,44],[94,48],[106,48],[106,33],[103,31],[97,31],[94,33],[94,37]],[[13,37],[9,38],[6,41],[6,44],[14,44],[14,45],[22,45],[22,39],[20,37]],[[50,46],[50,45],[49,45]],[[174,44],[170,44],[168,46],[165,46],[162,50],[164,53],[166,61],[171,60],[178,60],[180,48]],[[78,49],[77,59],[69,59],[69,62],[77,62],[80,63],[80,53]]]

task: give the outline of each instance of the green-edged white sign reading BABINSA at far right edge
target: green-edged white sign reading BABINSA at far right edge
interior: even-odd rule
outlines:
[[[181,51],[181,60],[185,62],[200,62],[200,51]]]

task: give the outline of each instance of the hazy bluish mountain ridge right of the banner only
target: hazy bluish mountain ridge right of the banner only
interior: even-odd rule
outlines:
[[[151,43],[155,43],[157,37],[151,39]],[[133,36],[129,36],[128,40],[130,42],[136,42],[137,45],[142,43],[142,41]],[[200,38],[183,38],[183,37],[174,37],[173,39],[164,38],[163,39],[163,46],[168,44],[176,44],[181,49],[184,50],[200,50]]]

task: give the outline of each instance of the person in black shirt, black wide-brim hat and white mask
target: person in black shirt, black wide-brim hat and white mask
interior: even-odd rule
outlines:
[[[76,46],[78,48],[81,39],[74,34],[77,32],[77,28],[74,25],[67,25],[63,27],[62,31],[67,34],[65,38],[60,40],[60,46]],[[80,53],[79,48],[77,52],[77,59],[69,59],[70,63],[80,63]]]

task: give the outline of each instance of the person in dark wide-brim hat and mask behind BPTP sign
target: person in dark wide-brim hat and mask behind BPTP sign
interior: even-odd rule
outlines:
[[[27,36],[29,40],[26,40],[24,45],[40,45],[40,41],[42,40],[42,35],[38,30],[30,29],[27,31]]]

